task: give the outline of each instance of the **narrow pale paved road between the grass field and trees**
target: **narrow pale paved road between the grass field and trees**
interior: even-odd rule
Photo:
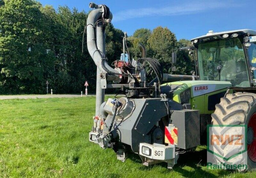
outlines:
[[[91,97],[95,95],[87,95]],[[81,97],[81,95],[0,95],[0,99],[36,99],[36,98],[73,98]],[[83,97],[85,97],[83,95]]]

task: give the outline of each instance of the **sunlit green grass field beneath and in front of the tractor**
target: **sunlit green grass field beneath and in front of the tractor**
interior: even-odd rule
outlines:
[[[0,177],[256,177],[256,173],[208,170],[206,150],[146,167],[129,154],[125,163],[111,149],[88,141],[95,97],[0,101]]]

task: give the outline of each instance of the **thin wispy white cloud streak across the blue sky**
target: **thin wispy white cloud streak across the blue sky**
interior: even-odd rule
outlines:
[[[179,5],[168,5],[160,8],[138,8],[129,9],[120,12],[113,13],[113,21],[122,21],[140,17],[151,17],[151,16],[174,16],[174,15],[186,15],[205,12],[213,9],[224,9],[239,7],[241,4],[234,4],[230,1],[226,2],[212,2],[212,1],[201,1],[179,4]]]

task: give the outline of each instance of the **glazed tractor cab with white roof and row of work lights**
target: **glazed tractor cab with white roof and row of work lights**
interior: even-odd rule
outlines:
[[[256,85],[256,31],[209,31],[191,42],[200,80],[229,81],[232,87]]]

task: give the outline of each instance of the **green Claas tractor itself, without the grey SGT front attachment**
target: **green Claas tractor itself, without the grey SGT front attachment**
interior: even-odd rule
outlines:
[[[192,39],[198,80],[161,85],[174,101],[199,110],[201,144],[206,141],[207,125],[247,125],[249,170],[256,167],[255,35],[249,29],[209,31]]]

